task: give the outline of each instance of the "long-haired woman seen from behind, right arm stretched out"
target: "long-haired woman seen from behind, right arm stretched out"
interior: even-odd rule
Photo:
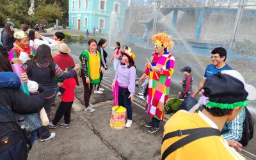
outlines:
[[[73,77],[76,74],[76,70],[79,68],[79,64],[77,64],[74,69],[64,72],[52,60],[50,47],[43,44],[38,47],[35,57],[33,57],[32,60],[26,61],[22,66],[28,73],[29,80],[35,81],[44,89],[44,92],[42,92],[45,97],[44,108],[48,118],[50,118],[51,105],[53,102],[52,97],[55,93],[54,76],[58,76],[61,79]],[[40,141],[51,140],[51,138],[55,136],[54,132],[49,132],[49,125],[39,129],[39,133]]]

